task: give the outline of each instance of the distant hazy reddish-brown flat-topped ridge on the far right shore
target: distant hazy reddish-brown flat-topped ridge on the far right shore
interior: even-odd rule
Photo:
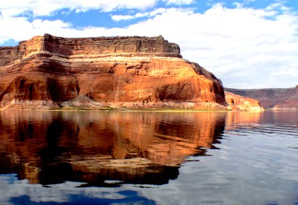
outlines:
[[[225,88],[228,92],[260,101],[265,109],[298,109],[298,85],[291,88],[267,88],[238,90]]]

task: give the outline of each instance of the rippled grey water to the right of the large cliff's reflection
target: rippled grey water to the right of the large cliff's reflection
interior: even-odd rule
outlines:
[[[179,178],[141,194],[157,204],[297,204],[297,150],[288,148],[297,146],[297,116],[227,113],[219,150],[208,150],[212,157],[189,157]]]

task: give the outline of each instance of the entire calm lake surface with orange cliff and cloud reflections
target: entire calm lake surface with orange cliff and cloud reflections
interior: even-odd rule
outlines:
[[[0,204],[298,204],[298,112],[0,111]]]

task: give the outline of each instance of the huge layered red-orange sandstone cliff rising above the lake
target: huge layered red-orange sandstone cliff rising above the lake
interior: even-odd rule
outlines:
[[[226,105],[220,81],[163,37],[59,38],[0,47],[0,107]]]

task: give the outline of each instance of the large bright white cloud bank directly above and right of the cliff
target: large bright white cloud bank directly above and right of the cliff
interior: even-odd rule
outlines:
[[[85,8],[88,6],[91,4]],[[293,87],[298,83],[297,72],[282,73],[288,73],[285,69],[298,70],[298,16],[280,8],[270,5],[265,9],[230,9],[217,3],[203,14],[190,9],[160,8],[111,16],[114,20],[148,18],[126,28],[77,28],[62,20],[29,22],[25,17],[5,16],[2,12],[0,43],[43,33],[64,37],[163,35],[180,45],[185,59],[213,72],[226,87]],[[280,73],[280,77],[274,73]]]

